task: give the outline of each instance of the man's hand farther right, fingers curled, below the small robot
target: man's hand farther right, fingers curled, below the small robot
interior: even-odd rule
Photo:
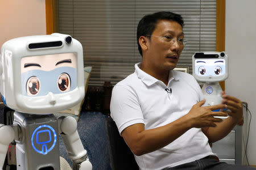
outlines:
[[[222,104],[226,104],[229,111],[224,111],[234,119],[236,124],[240,124],[243,118],[242,101],[233,96],[228,96],[222,91]]]

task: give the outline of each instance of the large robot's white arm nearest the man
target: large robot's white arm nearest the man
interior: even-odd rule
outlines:
[[[84,146],[82,146],[75,118],[71,116],[65,117],[60,124],[60,132],[68,158],[72,159],[73,169],[91,170],[92,164],[89,162]]]

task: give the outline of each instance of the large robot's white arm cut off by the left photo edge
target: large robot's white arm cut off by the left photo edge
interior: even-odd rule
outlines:
[[[8,146],[14,138],[14,129],[11,126],[0,124],[0,169],[3,168]]]

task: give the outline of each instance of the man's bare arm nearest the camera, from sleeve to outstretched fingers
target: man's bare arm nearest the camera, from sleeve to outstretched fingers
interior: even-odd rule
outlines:
[[[162,148],[179,138],[191,128],[214,127],[221,118],[213,116],[226,116],[224,112],[212,112],[224,109],[225,104],[210,107],[201,107],[205,100],[193,105],[188,114],[159,128],[145,130],[143,124],[134,124],[125,128],[121,135],[135,155],[143,155]]]

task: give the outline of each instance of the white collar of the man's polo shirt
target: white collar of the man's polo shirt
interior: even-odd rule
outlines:
[[[156,82],[161,82],[160,80],[154,78],[154,76],[151,76],[147,73],[145,73],[144,71],[142,71],[140,69],[141,67],[141,62],[139,63],[135,63],[135,73],[137,74],[138,78],[142,80],[143,83],[147,84],[147,86],[151,86],[152,84],[156,83]],[[177,77],[175,71],[170,70],[169,71],[169,80],[168,80],[168,84],[171,82],[171,80],[179,80],[179,78]]]

